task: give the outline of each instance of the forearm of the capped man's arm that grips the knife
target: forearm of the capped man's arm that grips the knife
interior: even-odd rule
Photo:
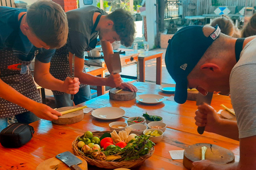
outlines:
[[[239,141],[239,133],[236,121],[225,120],[221,118],[218,125],[213,128],[212,132]]]

